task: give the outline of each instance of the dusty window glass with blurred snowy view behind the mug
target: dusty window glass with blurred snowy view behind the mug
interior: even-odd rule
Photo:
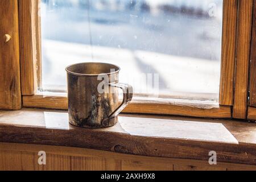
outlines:
[[[121,67],[137,96],[218,99],[222,0],[42,0],[42,88],[66,92],[65,67]]]

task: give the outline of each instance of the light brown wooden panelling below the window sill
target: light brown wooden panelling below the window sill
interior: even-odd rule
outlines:
[[[45,166],[38,164],[37,154],[40,150],[46,151]],[[0,159],[3,159],[0,170],[256,170],[256,166],[246,164],[218,162],[217,165],[210,166],[208,160],[155,158],[84,148],[18,143],[0,143]]]

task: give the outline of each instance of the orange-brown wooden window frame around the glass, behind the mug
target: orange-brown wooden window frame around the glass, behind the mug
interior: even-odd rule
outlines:
[[[67,110],[65,96],[38,92],[41,74],[40,0],[12,0],[19,5],[20,80],[23,107]],[[255,0],[254,0],[255,1]],[[134,100],[123,113],[247,119],[249,53],[253,0],[224,0],[219,104],[196,100]],[[38,81],[39,80],[39,81]]]

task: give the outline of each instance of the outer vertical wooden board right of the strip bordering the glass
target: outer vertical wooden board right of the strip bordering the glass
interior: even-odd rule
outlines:
[[[233,118],[247,118],[253,0],[238,1],[237,63]]]

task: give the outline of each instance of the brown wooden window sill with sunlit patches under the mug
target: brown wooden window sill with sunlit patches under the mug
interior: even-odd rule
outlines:
[[[0,142],[256,165],[256,124],[230,120],[120,115],[105,129],[69,125],[67,111],[0,111]]]

